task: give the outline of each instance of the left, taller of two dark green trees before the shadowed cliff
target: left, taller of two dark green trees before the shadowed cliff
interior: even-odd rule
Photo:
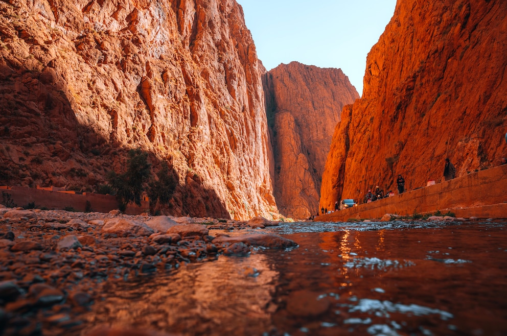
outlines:
[[[139,148],[128,152],[126,165],[127,171],[125,173],[117,174],[111,171],[108,174],[109,185],[116,191],[121,211],[125,211],[130,202],[141,205],[143,185],[148,181],[151,167],[151,164],[148,163],[148,153]]]

